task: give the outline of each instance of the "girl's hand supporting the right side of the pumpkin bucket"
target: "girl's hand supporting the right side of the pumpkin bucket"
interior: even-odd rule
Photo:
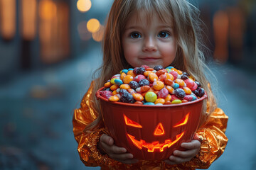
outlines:
[[[181,164],[183,162],[190,161],[193,157],[198,154],[201,147],[201,142],[198,140],[192,140],[191,142],[181,143],[181,147],[186,149],[185,151],[175,150],[174,153],[166,159],[166,164]]]

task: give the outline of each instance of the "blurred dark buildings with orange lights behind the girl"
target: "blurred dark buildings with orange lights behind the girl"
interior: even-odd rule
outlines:
[[[254,68],[255,1],[196,2],[214,59]],[[112,0],[0,0],[0,81],[80,57],[102,40],[111,4]]]

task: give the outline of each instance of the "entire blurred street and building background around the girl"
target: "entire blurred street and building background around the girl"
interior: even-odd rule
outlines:
[[[101,64],[111,4],[0,0],[0,169],[93,169],[78,157],[72,116]],[[255,169],[256,1],[192,4],[229,116],[228,146],[210,169]]]

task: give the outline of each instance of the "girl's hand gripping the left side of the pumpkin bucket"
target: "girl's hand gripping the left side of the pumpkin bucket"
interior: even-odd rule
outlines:
[[[101,152],[105,152],[109,157],[123,164],[134,164],[138,162],[137,159],[132,159],[133,155],[127,153],[127,149],[114,145],[113,138],[108,135],[103,134],[100,137],[98,147],[100,147]]]

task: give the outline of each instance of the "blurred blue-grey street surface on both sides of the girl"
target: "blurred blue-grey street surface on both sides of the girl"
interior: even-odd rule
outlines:
[[[23,72],[0,86],[0,169],[92,169],[80,162],[72,131],[73,109],[101,61],[99,47],[91,49],[78,60]],[[255,72],[228,64],[211,69],[219,106],[229,116],[229,142],[210,169],[254,169]]]

